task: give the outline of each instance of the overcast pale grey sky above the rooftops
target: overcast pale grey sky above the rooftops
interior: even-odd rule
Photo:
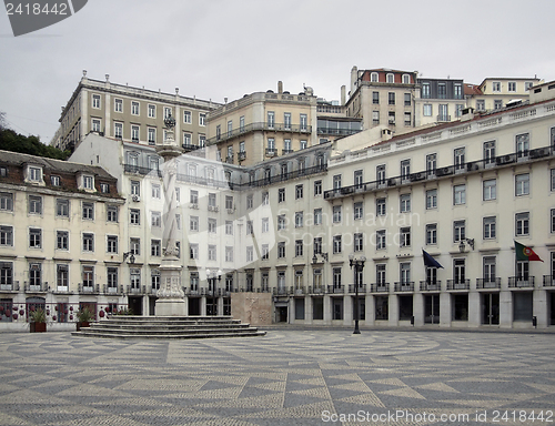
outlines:
[[[0,111],[46,143],[82,70],[215,102],[279,80],[339,100],[353,65],[555,80],[554,0],[89,0],[17,38],[0,8]]]

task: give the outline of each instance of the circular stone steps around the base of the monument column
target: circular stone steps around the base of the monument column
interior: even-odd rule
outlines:
[[[231,316],[118,315],[71,334],[111,338],[214,338],[264,336],[266,333]]]

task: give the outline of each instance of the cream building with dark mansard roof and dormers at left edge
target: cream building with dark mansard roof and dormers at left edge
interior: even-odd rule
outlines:
[[[123,203],[102,168],[2,151],[0,326],[18,328],[36,307],[63,327],[80,307],[101,315],[127,304]]]

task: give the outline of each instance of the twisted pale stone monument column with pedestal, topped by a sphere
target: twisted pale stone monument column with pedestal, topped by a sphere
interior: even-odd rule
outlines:
[[[160,290],[157,293],[157,316],[184,316],[186,315],[186,303],[181,287],[181,270],[183,265],[176,247],[176,219],[175,212],[178,201],[175,196],[176,158],[183,152],[175,142],[175,119],[169,115],[164,120],[165,132],[163,142],[157,144],[157,152],[164,159],[162,171],[164,213],[162,216],[162,247],[163,257],[160,265]]]

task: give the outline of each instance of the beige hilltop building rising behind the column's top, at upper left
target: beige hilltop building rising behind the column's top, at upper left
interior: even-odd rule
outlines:
[[[163,140],[163,120],[175,118],[175,134],[182,144],[203,146],[206,115],[220,104],[161,91],[132,88],[83,77],[62,108],[60,128],[50,142],[61,150],[73,150],[94,132],[107,138],[154,145]],[[178,136],[176,136],[178,138]]]

